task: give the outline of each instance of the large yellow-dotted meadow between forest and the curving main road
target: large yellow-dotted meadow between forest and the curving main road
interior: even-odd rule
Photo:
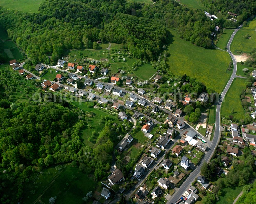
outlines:
[[[227,71],[231,58],[228,53],[198,47],[178,37],[170,30],[172,39],[167,63],[174,74],[195,77],[216,92],[225,87],[232,71]]]

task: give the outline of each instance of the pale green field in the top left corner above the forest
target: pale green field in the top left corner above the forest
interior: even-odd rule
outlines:
[[[40,3],[43,1],[44,0],[1,0],[0,6],[24,12],[37,12]]]

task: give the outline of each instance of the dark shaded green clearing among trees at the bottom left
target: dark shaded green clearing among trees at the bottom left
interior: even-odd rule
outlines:
[[[97,183],[93,181],[92,176],[82,173],[78,168],[68,165],[56,181],[42,195],[41,200],[44,203],[49,202],[50,197],[57,196],[56,204],[84,203],[83,197],[96,189]]]

